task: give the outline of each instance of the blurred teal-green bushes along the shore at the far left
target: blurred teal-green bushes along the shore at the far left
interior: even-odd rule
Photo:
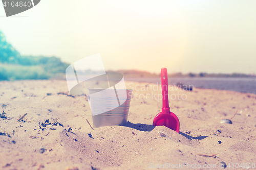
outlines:
[[[20,56],[0,31],[0,81],[48,79],[65,74],[68,66],[57,57]]]

